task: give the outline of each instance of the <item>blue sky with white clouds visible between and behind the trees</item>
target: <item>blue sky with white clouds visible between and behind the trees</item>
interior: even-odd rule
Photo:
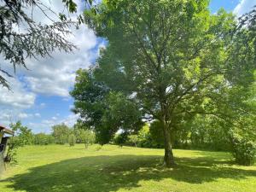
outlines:
[[[61,12],[58,11],[62,9],[61,0],[52,2],[54,3],[50,7]],[[79,3],[79,0],[77,2],[79,10],[82,10],[83,3]],[[210,9],[212,13],[224,8],[242,15],[253,5],[256,5],[256,0],[212,0]],[[35,20],[50,22],[38,10],[35,11]],[[9,79],[12,91],[0,88],[0,125],[21,120],[37,133],[49,132],[52,125],[62,122],[70,126],[74,124],[77,117],[70,111],[73,108],[73,98],[69,96],[69,91],[73,89],[75,72],[96,61],[103,41],[96,38],[94,32],[86,26],[73,30],[70,40],[79,47],[73,54],[55,52],[52,57],[27,60],[29,71],[18,68],[16,78]],[[1,55],[0,66],[9,67]]]

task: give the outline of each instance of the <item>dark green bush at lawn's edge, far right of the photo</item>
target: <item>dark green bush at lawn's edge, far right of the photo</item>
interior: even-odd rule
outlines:
[[[233,155],[238,164],[252,166],[256,156],[256,143],[240,136],[234,137]]]

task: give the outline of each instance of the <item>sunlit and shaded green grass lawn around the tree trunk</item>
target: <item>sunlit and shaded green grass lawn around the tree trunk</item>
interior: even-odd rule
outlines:
[[[9,166],[0,191],[256,191],[256,166],[236,166],[230,154],[174,150],[177,166],[162,166],[163,150],[94,145],[27,146]]]

